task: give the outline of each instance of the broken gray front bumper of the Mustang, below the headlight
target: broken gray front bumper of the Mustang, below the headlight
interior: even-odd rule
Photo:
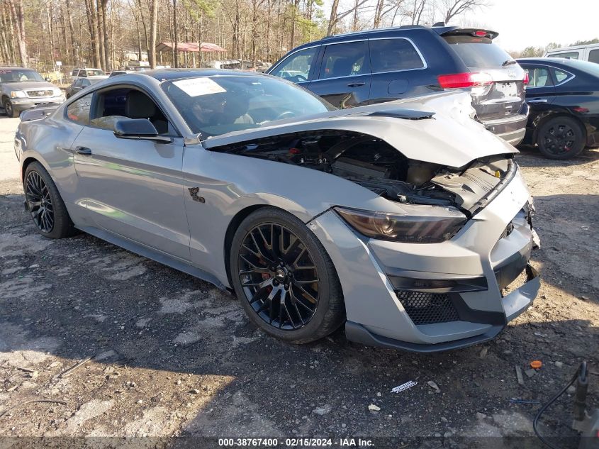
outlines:
[[[333,211],[311,221],[337,268],[347,338],[435,352],[496,336],[532,304],[540,286],[528,265],[528,199],[517,172],[454,238],[434,244],[367,239]],[[503,287],[523,270],[527,282],[503,296]]]

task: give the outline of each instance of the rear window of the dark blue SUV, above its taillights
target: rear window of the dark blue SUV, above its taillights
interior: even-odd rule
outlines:
[[[505,61],[513,60],[508,52],[489,38],[468,35],[443,36],[467,67],[501,67]]]

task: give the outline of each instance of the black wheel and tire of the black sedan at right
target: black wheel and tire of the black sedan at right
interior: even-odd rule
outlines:
[[[537,132],[537,145],[544,157],[566,160],[578,156],[584,149],[586,135],[576,119],[568,116],[550,118]]]

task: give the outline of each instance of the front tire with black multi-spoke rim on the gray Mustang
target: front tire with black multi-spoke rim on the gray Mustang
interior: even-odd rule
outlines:
[[[252,212],[233,236],[230,273],[250,320],[289,343],[328,336],[345,321],[335,267],[296,216],[274,207]]]

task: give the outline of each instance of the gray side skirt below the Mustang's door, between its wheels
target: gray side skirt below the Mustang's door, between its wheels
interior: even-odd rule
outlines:
[[[174,268],[175,270],[179,270],[184,273],[187,273],[188,275],[198,277],[203,281],[210,282],[219,289],[228,290],[228,288],[225,287],[225,285],[222,282],[220,282],[215,276],[211,275],[210,273],[204,270],[200,270],[198,267],[191,265],[186,260],[179,259],[179,257],[173,257],[172,255],[163,253],[162,251],[156,250],[155,248],[150,248],[149,246],[142,245],[138,242],[134,242],[133,240],[125,238],[122,235],[113,234],[111,232],[104,231],[103,229],[94,228],[93,226],[75,227],[83,231],[84,233],[94,235],[94,237],[106,240],[108,243],[120,246],[121,248],[124,248],[125,250],[128,250],[131,253],[147,257],[148,259],[152,259],[156,262],[162,263],[162,265],[167,265],[168,267]]]

